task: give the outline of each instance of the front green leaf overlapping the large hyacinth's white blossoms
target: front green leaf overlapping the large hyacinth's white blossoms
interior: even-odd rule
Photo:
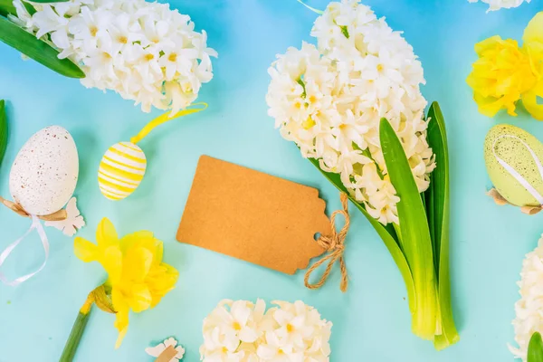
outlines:
[[[420,338],[433,340],[438,316],[437,280],[426,211],[404,148],[386,119],[381,119],[379,137],[390,182],[400,198],[396,204],[399,229],[414,281],[413,332]]]

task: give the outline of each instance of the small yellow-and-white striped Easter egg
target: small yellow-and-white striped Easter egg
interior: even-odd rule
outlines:
[[[145,154],[133,143],[119,142],[111,146],[100,162],[98,185],[110,200],[122,200],[138,188],[145,169]]]

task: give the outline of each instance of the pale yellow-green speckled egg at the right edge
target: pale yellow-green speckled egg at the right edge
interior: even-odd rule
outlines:
[[[514,136],[522,139],[541,161],[543,161],[543,144],[539,142],[538,138],[533,137],[524,129],[503,124],[494,126],[484,141],[484,160],[487,171],[492,184],[500,195],[513,205],[539,205],[538,200],[500,165],[492,149],[495,149],[498,157],[503,159],[510,167],[513,167],[520,176],[524,177],[531,186],[538,190],[539,194],[543,195],[543,179],[539,174],[536,161],[529,153],[528,148],[520,143],[519,139],[500,138],[502,136]]]

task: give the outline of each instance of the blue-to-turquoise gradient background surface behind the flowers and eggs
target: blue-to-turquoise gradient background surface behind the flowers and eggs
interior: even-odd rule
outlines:
[[[324,8],[326,1],[309,1]],[[312,41],[316,14],[294,0],[172,1],[205,29],[219,52],[214,80],[199,100],[205,112],[171,122],[141,143],[148,175],[134,195],[114,203],[97,185],[104,151],[136,134],[152,116],[114,93],[87,90],[0,43],[0,99],[8,101],[9,145],[0,167],[0,195],[9,196],[8,175],[19,148],[39,129],[58,124],[71,131],[81,161],[76,190],[88,226],[80,235],[94,240],[100,219],[109,217],[120,234],[148,229],[165,242],[166,262],[180,278],[154,310],[130,316],[127,337],[114,349],[112,315],[95,310],[81,341],[77,361],[146,361],[144,348],[175,336],[186,348],[185,361],[199,360],[202,319],[224,298],[304,300],[333,321],[332,361],[512,361],[510,321],[518,300],[523,256],[543,232],[543,214],[527,216],[497,206],[485,195],[490,186],[482,157],[488,129],[511,123],[543,139],[543,124],[524,110],[519,117],[481,116],[465,78],[475,60],[473,45],[491,35],[521,39],[529,19],[543,10],[534,0],[514,10],[485,14],[486,5],[465,0],[372,0],[379,16],[405,31],[424,65],[427,100],[439,100],[445,115],[451,155],[452,298],[461,341],[436,352],[415,338],[405,286],[384,244],[364,216],[351,208],[347,263],[349,290],[338,289],[334,270],[324,288],[303,287],[303,271],[294,277],[177,243],[176,229],[200,155],[220,157],[302,184],[316,186],[339,207],[337,191],[300,157],[298,149],[273,129],[264,100],[267,68],[276,53]],[[220,182],[220,180],[217,180]],[[29,221],[0,208],[0,249],[19,237]],[[51,258],[44,271],[17,288],[0,285],[0,361],[56,361],[77,311],[89,291],[105,277],[99,264],[73,255],[72,240],[48,229]],[[43,258],[37,237],[29,238],[3,266],[10,277],[35,270]]]

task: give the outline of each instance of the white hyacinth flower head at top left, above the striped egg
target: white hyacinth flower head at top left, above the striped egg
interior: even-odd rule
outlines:
[[[15,0],[12,18],[36,37],[52,43],[81,65],[81,83],[115,90],[127,100],[176,113],[197,97],[213,78],[206,33],[195,32],[188,15],[167,4],[145,0],[70,0],[55,5],[33,3],[29,14]]]

